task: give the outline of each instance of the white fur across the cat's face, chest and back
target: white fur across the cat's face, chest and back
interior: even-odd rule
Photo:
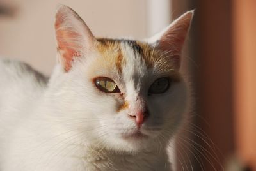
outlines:
[[[127,43],[121,47],[122,75],[100,67],[92,74],[102,57],[93,50],[68,72],[57,64],[49,80],[26,64],[0,61],[1,171],[171,169],[166,147],[186,110],[186,84],[180,80],[148,96],[165,73],[148,69]],[[99,76],[113,78],[129,108],[116,112],[117,98],[93,85]],[[138,128],[129,114],[145,103],[150,116],[140,131],[148,137],[132,137]]]

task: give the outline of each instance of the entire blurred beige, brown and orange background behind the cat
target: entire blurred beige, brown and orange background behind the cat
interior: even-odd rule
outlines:
[[[109,38],[147,38],[196,9],[182,66],[195,107],[178,138],[177,170],[256,170],[255,0],[0,0],[0,56],[50,75],[60,3]]]

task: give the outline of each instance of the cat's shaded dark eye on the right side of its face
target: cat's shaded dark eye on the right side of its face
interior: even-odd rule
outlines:
[[[157,94],[164,93],[170,87],[170,78],[163,77],[155,80],[152,85],[150,85],[148,93]]]

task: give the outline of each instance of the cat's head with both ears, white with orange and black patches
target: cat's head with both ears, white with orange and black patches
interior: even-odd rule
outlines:
[[[180,57],[193,11],[147,41],[95,38],[67,6],[56,13],[52,108],[85,144],[136,152],[166,143],[187,107]]]

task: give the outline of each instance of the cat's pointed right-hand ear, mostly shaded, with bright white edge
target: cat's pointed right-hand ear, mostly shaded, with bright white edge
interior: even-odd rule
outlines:
[[[147,40],[148,43],[156,45],[164,54],[172,58],[175,68],[180,68],[180,56],[186,36],[191,25],[194,10],[188,11],[174,20],[163,31],[157,33]]]

